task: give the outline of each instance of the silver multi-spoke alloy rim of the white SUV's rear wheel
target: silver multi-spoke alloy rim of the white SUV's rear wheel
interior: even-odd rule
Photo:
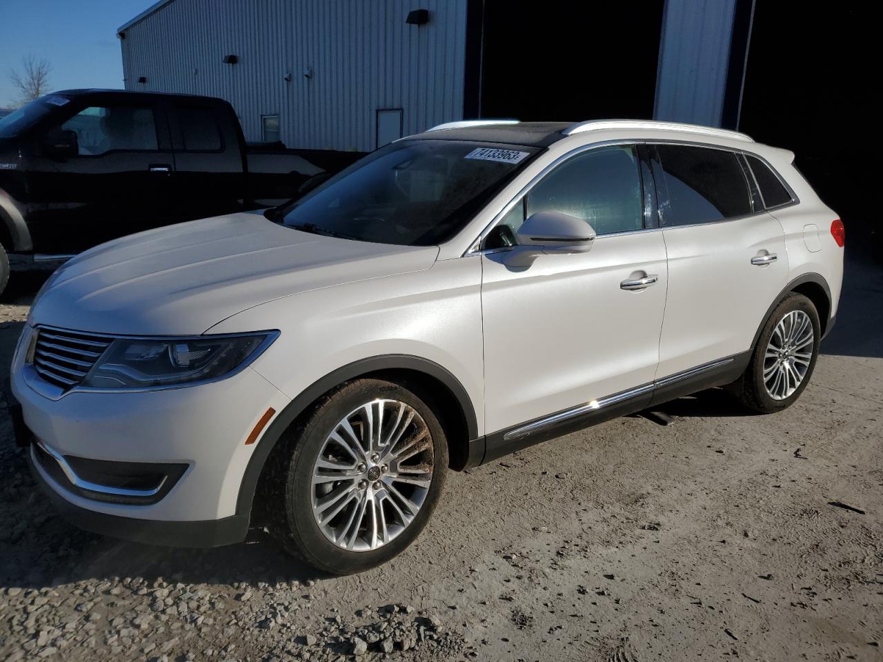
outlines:
[[[764,386],[771,398],[785,400],[803,383],[814,340],[812,321],[805,312],[791,311],[779,320],[764,355]]]

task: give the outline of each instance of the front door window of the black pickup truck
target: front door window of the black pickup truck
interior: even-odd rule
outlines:
[[[61,125],[77,134],[79,154],[156,151],[154,111],[138,106],[89,106]]]

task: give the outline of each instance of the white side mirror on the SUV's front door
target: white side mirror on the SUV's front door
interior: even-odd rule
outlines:
[[[591,225],[570,214],[537,212],[521,224],[517,246],[502,261],[509,267],[530,267],[540,255],[588,252],[595,235]]]

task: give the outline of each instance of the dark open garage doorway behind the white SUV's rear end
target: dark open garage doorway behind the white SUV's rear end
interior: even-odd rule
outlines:
[[[874,223],[883,232],[868,140],[878,23],[871,5],[758,0],[745,73],[740,131],[796,153],[797,167],[841,214],[849,252],[864,250]]]

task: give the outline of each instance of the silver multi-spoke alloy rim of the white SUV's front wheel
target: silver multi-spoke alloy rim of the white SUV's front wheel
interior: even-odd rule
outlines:
[[[342,418],[313,463],[313,516],[325,538],[366,552],[402,533],[432,485],[434,446],[411,405],[374,400]]]

